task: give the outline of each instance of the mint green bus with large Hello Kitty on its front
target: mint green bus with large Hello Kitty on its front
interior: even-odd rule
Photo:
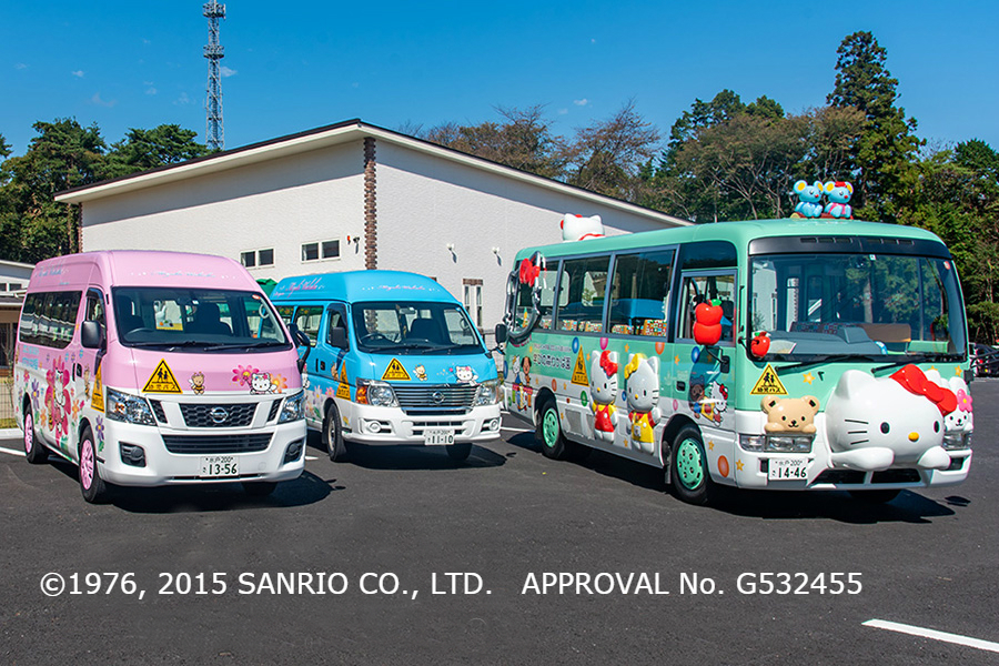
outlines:
[[[723,222],[528,248],[507,283],[504,401],[551,458],[889,502],[971,462],[965,306],[919,229]]]

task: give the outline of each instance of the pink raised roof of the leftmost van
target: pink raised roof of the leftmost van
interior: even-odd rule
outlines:
[[[225,256],[155,250],[103,250],[67,254],[39,262],[29,291],[79,285],[97,268],[101,282],[115,286],[210,286],[260,291],[239,262]]]

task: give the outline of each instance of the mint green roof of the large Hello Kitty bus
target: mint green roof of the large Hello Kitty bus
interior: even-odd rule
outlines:
[[[864,222],[860,220],[786,218],[783,220],[715,222],[627,233],[602,239],[588,239],[585,241],[563,242],[552,245],[536,245],[519,251],[517,259],[529,256],[538,251],[545,258],[552,259],[574,254],[637,250],[694,241],[730,241],[739,249],[748,248],[749,242],[756,239],[778,236],[874,236],[935,241],[942,244],[942,241],[936,234],[916,226]]]

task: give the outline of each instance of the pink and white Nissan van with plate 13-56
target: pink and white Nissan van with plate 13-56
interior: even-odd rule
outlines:
[[[24,454],[108,485],[240,481],[252,495],[304,467],[295,337],[239,263],[174,252],[41,262],[18,327]]]

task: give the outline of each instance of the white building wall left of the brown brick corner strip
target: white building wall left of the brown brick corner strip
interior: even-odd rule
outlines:
[[[239,261],[274,249],[254,278],[364,268],[361,142],[87,202],[83,250],[175,250]],[[346,236],[362,236],[347,244]],[[302,262],[302,243],[340,239],[341,259]]]

